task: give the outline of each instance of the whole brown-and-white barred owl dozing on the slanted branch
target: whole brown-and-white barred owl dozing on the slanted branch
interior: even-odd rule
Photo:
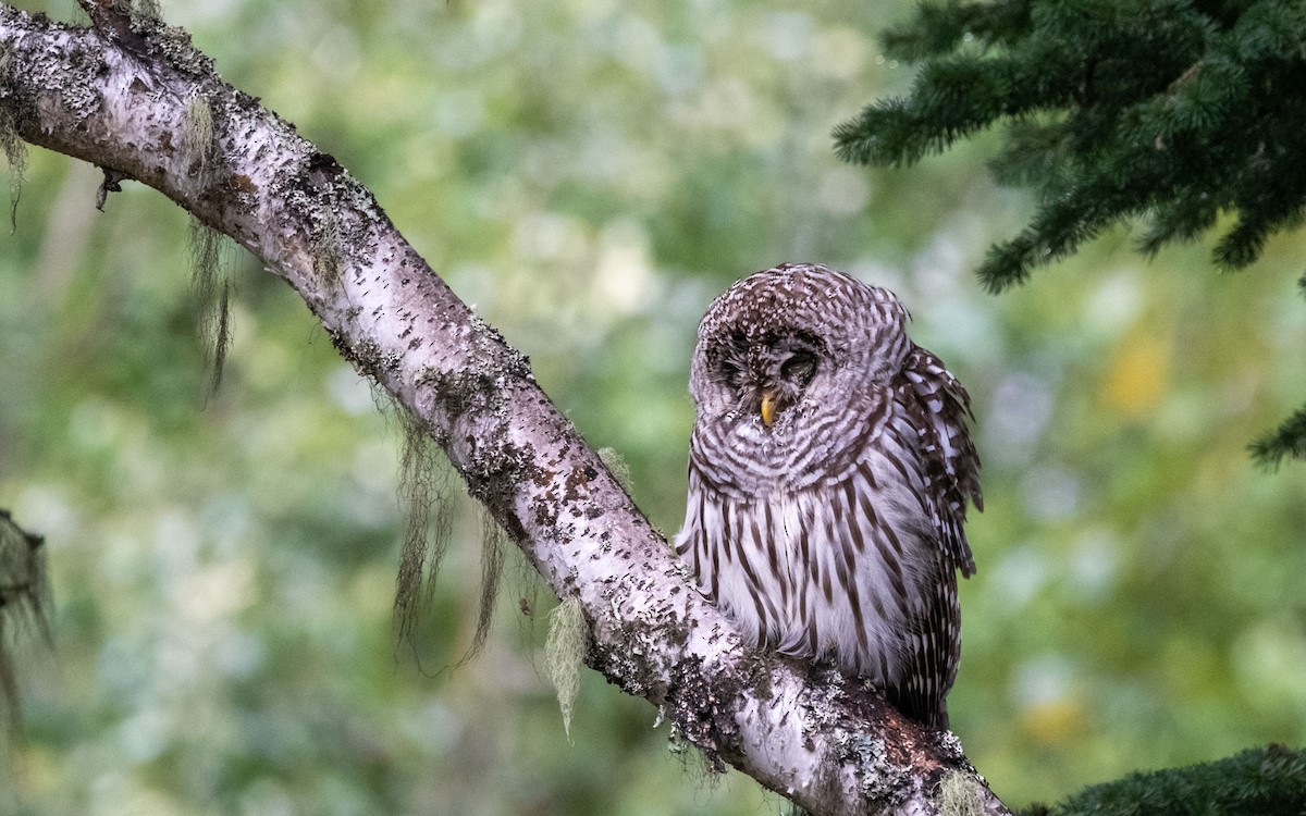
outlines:
[[[675,550],[746,640],[833,661],[942,729],[980,460],[965,389],[906,321],[888,290],[815,264],[717,298]]]

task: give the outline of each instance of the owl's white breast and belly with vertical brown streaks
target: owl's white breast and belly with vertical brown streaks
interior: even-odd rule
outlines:
[[[748,641],[884,687],[906,674],[910,619],[926,611],[942,563],[914,557],[934,533],[913,480],[875,448],[857,453],[751,496],[738,483],[720,490],[716,469],[691,461],[675,548]]]

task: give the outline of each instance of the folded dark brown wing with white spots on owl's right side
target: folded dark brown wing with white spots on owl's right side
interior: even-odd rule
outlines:
[[[952,565],[969,578],[976,563],[963,526],[966,500],[983,509],[980,454],[966,430],[970,394],[943,367],[943,360],[916,345],[908,351],[902,375],[906,380],[902,407],[919,435],[926,508]]]

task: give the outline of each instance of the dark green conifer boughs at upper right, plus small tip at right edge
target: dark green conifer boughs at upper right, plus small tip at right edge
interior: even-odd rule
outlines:
[[[837,151],[905,166],[1000,121],[990,170],[1037,209],[989,249],[990,291],[1127,219],[1152,255],[1233,215],[1213,252],[1233,270],[1306,215],[1301,0],[927,0],[882,44],[919,64],[916,84],[837,127]],[[1306,458],[1306,423],[1251,449],[1268,466]]]

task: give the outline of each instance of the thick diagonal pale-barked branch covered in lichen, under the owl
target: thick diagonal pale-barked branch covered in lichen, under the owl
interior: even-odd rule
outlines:
[[[283,277],[554,590],[579,602],[590,666],[712,761],[814,812],[932,813],[944,787],[953,802],[969,791],[977,812],[1006,812],[949,735],[835,674],[742,648],[525,358],[330,155],[222,82],[184,31],[108,0],[82,5],[90,29],[0,7],[0,120],[104,168],[106,191],[149,184]]]

